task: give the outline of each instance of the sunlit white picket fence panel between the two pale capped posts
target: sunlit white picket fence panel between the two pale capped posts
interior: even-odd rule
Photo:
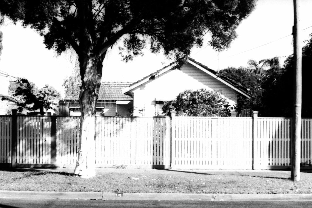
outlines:
[[[251,118],[176,117],[173,168],[252,167]]]

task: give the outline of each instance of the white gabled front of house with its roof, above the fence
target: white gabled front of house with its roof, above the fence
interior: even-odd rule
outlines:
[[[187,89],[222,90],[230,105],[238,96],[251,98],[249,89],[188,58],[180,67],[174,62],[124,88],[122,92],[133,98],[134,116],[162,115],[164,101],[175,99]],[[234,114],[234,112],[233,112]]]

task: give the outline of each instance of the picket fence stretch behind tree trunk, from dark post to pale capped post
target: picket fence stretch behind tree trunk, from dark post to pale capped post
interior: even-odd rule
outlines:
[[[96,117],[95,163],[113,165],[169,165],[170,118]],[[79,117],[56,119],[56,163],[77,162]]]

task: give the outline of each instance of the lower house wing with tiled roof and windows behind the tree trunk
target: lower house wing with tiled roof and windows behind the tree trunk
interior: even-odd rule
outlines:
[[[96,103],[97,116],[127,116],[133,109],[133,98],[121,91],[129,82],[103,82]],[[60,115],[80,116],[79,94],[60,101]]]

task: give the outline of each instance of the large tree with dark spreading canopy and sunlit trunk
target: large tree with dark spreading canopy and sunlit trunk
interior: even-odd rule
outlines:
[[[192,46],[227,48],[235,30],[254,8],[254,0],[6,0],[0,13],[21,20],[44,36],[58,53],[72,48],[82,80],[80,147],[75,174],[95,175],[95,102],[106,51],[124,38],[124,60],[141,54],[146,43],[157,53],[183,60]]]

